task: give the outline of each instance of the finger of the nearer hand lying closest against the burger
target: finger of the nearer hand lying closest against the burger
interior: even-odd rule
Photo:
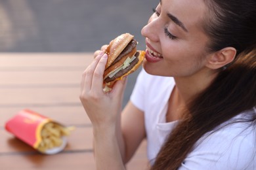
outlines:
[[[106,66],[106,62],[108,61],[108,55],[103,54],[103,56],[100,58],[100,61],[98,61],[98,64],[96,65],[95,72],[93,73],[93,82],[92,82],[92,90],[94,90],[95,93],[103,93],[102,90],[102,84],[103,84],[103,74]]]

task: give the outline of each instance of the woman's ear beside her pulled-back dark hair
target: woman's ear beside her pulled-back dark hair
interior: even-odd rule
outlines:
[[[214,52],[207,59],[206,66],[210,69],[219,69],[228,63],[231,63],[236,56],[236,48],[226,47]]]

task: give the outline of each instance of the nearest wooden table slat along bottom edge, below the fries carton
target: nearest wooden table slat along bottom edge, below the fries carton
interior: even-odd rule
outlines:
[[[4,170],[96,169],[91,152],[63,153],[52,156],[41,154],[0,156],[0,168]]]

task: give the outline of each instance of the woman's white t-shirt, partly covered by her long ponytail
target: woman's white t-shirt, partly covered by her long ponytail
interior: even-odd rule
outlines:
[[[167,103],[174,86],[173,78],[148,75],[142,69],[131,95],[133,104],[144,112],[150,163],[154,163],[165,138],[178,123],[165,120]],[[252,110],[250,113],[255,112]],[[242,113],[235,118],[243,116],[247,114]],[[179,170],[183,169],[256,169],[255,129],[241,122],[205,134],[183,161]]]

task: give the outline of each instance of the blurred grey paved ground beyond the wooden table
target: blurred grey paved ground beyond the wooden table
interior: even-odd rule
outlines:
[[[93,52],[140,29],[159,1],[0,0],[0,52]],[[129,77],[125,102],[137,73]]]

